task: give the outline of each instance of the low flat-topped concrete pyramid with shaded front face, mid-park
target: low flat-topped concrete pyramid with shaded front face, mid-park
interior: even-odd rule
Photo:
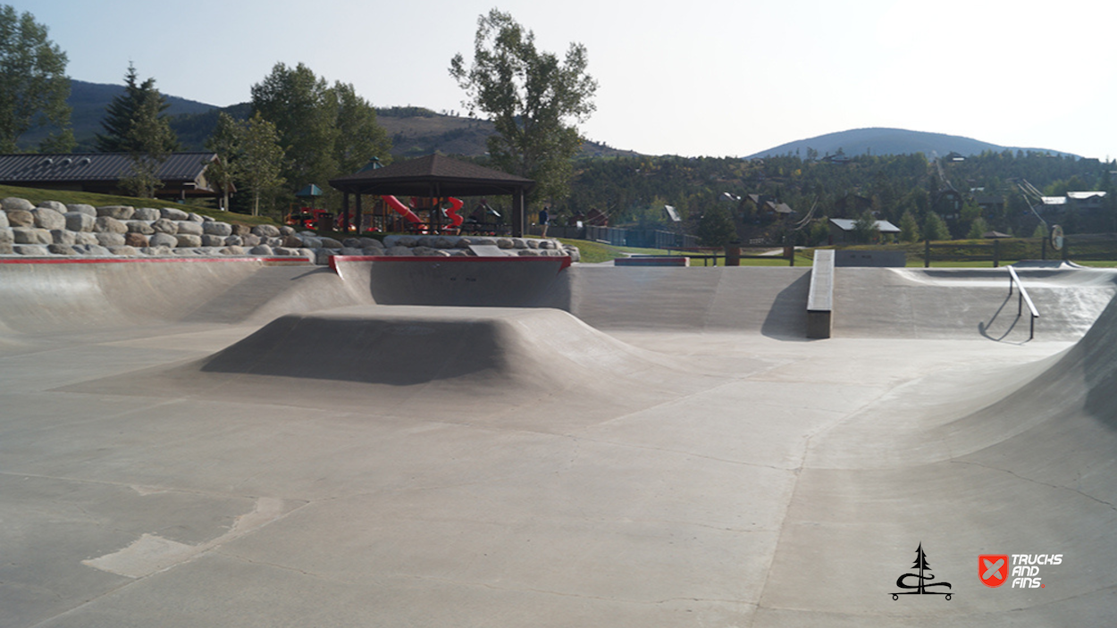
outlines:
[[[569,420],[554,429],[569,429],[727,379],[678,362],[560,310],[372,305],[281,316],[209,358],[65,390],[423,416],[449,408],[503,427],[532,425],[533,408],[557,403]]]

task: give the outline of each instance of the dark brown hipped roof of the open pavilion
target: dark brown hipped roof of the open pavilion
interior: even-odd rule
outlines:
[[[481,197],[526,192],[535,181],[433,154],[331,179],[330,184],[354,194]]]

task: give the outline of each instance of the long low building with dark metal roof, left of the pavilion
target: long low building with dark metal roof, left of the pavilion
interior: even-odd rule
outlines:
[[[159,169],[162,199],[218,197],[206,180],[216,153],[171,153]],[[125,153],[0,154],[0,184],[101,194],[126,194],[121,180],[132,174]]]

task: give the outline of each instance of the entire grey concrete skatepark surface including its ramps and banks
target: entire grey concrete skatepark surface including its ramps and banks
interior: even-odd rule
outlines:
[[[522,307],[382,272],[0,265],[0,626],[1117,615],[1114,273],[1021,272],[1028,341],[1003,270],[839,268],[805,341],[809,269],[574,266]],[[917,548],[948,600],[898,587]]]

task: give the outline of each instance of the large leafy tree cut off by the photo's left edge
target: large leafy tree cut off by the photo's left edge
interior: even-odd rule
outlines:
[[[66,53],[47,38],[47,27],[35,16],[0,6],[0,152],[16,152],[20,136],[40,126],[59,129],[42,140],[40,150],[74,149],[66,61]]]

